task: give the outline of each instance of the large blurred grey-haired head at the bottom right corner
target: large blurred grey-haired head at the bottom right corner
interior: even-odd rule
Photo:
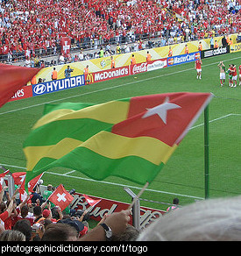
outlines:
[[[150,224],[138,241],[241,240],[241,196],[203,200]]]

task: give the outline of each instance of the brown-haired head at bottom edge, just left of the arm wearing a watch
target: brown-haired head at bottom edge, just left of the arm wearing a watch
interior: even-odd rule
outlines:
[[[41,241],[76,241],[79,237],[76,229],[69,224],[49,224]]]

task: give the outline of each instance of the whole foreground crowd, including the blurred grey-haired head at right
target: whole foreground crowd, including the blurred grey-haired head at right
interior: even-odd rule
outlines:
[[[68,207],[52,205],[46,199],[53,195],[48,185],[40,194],[39,184],[32,198],[18,200],[18,188],[11,198],[3,187],[0,192],[0,241],[227,241],[240,240],[240,196],[217,198],[169,207],[144,231],[130,222],[131,210],[114,212],[89,229],[88,211],[81,216]],[[56,188],[57,189],[57,188]],[[73,191],[74,192],[74,191]],[[69,191],[71,193],[71,191]],[[214,221],[215,220],[215,221]],[[145,245],[145,244],[143,244]]]

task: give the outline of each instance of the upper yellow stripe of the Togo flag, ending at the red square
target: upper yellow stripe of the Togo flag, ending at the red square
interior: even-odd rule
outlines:
[[[79,118],[89,118],[108,124],[117,124],[127,118],[129,105],[129,102],[113,101],[110,103],[93,105],[82,110],[54,110],[44,117],[41,117],[32,129],[34,130],[54,121]]]

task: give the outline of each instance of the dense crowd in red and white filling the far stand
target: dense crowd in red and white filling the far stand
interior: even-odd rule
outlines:
[[[57,54],[60,40],[97,48],[142,39],[182,41],[240,32],[240,1],[1,0],[3,60]]]

